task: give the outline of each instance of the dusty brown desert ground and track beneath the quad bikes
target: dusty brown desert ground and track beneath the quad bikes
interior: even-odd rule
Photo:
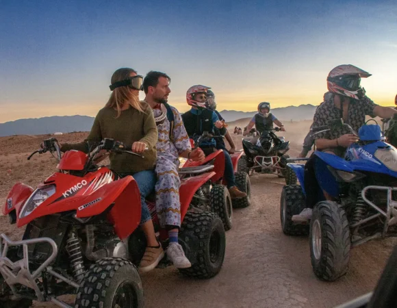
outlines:
[[[229,123],[229,129],[246,126],[246,120]],[[310,121],[285,122],[282,133],[292,142],[290,155],[300,152]],[[281,134],[281,133],[280,133]],[[232,133],[233,135],[233,133]],[[56,136],[60,142],[79,142],[87,133]],[[50,175],[57,164],[49,153],[27,156],[50,136],[0,138],[0,204],[16,181],[32,187]],[[241,147],[242,136],[233,135]],[[146,307],[335,307],[370,292],[381,274],[396,240],[376,240],[354,248],[348,274],[333,283],[313,274],[306,237],[288,237],[279,222],[279,200],[283,179],[273,175],[251,177],[252,204],[233,212],[233,228],[227,232],[223,268],[210,280],[196,281],[178,274],[175,268],[155,269],[142,274]],[[0,216],[0,231],[19,238],[23,230]],[[64,300],[73,305],[73,296]],[[55,308],[51,303],[34,307]]]

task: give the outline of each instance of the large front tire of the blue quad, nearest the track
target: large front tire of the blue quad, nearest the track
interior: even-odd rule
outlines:
[[[333,201],[321,201],[310,222],[310,257],[314,274],[335,281],[346,274],[350,259],[350,229],[346,212]]]

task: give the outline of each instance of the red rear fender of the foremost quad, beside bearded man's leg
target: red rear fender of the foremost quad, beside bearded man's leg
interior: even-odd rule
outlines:
[[[181,188],[179,188],[179,198],[181,201],[181,221],[183,221],[185,218],[185,214],[189,209],[190,202],[192,202],[192,198],[196,191],[215,175],[216,173],[211,171],[203,173],[203,175],[198,175],[197,177],[188,177],[181,180]]]

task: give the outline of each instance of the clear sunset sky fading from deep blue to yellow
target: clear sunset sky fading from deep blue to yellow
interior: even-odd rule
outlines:
[[[95,116],[120,67],[170,75],[181,112],[194,84],[218,110],[318,105],[339,64],[371,73],[368,97],[393,105],[396,0],[0,1],[0,123]]]

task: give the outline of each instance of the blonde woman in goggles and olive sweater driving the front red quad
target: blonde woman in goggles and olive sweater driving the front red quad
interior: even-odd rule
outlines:
[[[138,184],[142,203],[140,227],[146,235],[146,251],[140,262],[140,271],[153,270],[164,257],[164,251],[155,237],[146,196],[154,190],[158,133],[151,107],[139,101],[143,77],[132,68],[119,68],[111,79],[109,101],[99,110],[88,138],[78,144],[63,144],[61,151],[71,149],[88,153],[92,144],[103,138],[123,142],[131,151],[144,153],[144,158],[127,153],[111,153],[110,168],[121,177],[132,175]],[[132,205],[131,205],[132,206]]]

